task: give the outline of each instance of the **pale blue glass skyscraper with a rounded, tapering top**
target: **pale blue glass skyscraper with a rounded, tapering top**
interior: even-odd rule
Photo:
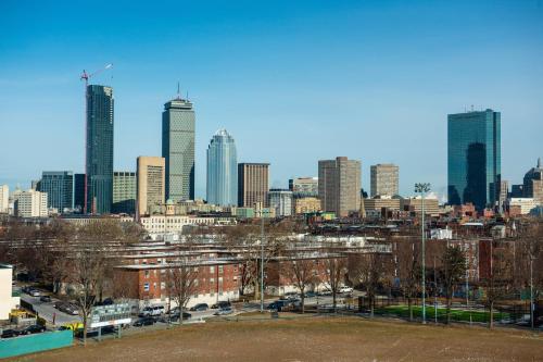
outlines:
[[[226,129],[213,136],[207,148],[207,202],[238,203],[238,158],[233,137]]]

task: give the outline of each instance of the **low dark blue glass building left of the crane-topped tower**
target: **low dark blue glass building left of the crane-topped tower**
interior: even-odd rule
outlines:
[[[74,208],[74,174],[72,171],[43,171],[38,191],[47,194],[47,205],[64,213]]]

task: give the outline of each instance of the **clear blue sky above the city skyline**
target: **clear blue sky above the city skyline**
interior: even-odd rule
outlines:
[[[270,162],[272,185],[337,155],[400,165],[446,185],[446,114],[502,112],[502,173],[543,157],[543,2],[0,2],[0,184],[84,170],[79,75],[115,92],[115,170],[160,155],[163,104],[189,91],[197,196],[218,128],[240,162]]]

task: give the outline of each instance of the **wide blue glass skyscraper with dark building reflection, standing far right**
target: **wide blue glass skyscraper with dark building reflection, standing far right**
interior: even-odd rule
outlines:
[[[494,207],[501,182],[501,114],[449,115],[449,203]]]

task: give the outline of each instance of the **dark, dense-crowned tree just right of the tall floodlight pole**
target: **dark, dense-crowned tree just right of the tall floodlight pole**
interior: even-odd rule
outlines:
[[[454,286],[463,280],[466,275],[466,255],[457,246],[447,247],[442,255],[442,282],[446,298],[446,323],[451,322],[451,302]]]

